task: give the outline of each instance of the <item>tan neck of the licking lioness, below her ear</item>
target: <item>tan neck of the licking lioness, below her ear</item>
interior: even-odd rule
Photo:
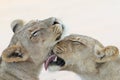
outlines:
[[[120,80],[120,58],[116,61],[105,63],[96,74],[79,74],[81,80]]]

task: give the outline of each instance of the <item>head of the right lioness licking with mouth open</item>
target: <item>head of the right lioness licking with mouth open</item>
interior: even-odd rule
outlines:
[[[96,73],[100,64],[115,60],[118,54],[115,46],[104,47],[93,38],[73,34],[54,46],[45,62],[45,68]]]

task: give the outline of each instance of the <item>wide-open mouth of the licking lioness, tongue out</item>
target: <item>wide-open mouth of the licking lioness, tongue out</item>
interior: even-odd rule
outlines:
[[[49,66],[52,66],[52,65],[55,65],[55,66],[64,66],[65,65],[65,61],[58,57],[57,55],[53,54],[53,55],[50,55],[44,62],[44,67],[45,67],[45,70],[48,69]]]

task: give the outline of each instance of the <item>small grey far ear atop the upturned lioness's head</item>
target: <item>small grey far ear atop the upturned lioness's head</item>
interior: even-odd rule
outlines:
[[[23,21],[22,20],[14,20],[11,23],[11,28],[14,33],[16,33],[18,30],[20,30],[23,26]]]

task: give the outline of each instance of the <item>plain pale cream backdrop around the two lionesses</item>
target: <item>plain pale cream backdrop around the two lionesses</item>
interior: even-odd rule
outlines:
[[[43,20],[58,17],[66,35],[91,36],[105,46],[120,48],[120,0],[0,0],[0,53],[8,46],[15,19]],[[72,72],[42,71],[40,80],[80,80]]]

